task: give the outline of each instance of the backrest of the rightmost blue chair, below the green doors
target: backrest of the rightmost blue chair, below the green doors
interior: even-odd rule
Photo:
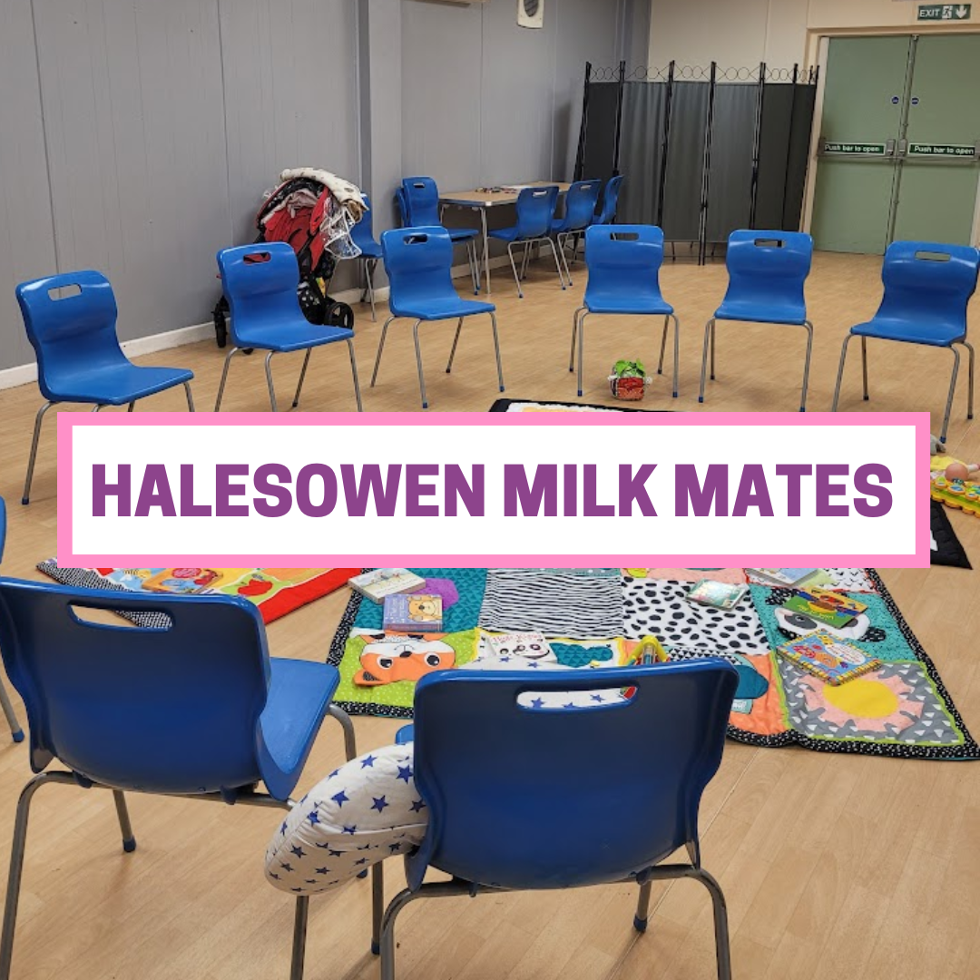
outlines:
[[[976,292],[980,252],[966,245],[894,242],[885,253],[885,295],[875,319],[932,323],[966,334],[966,307]]]

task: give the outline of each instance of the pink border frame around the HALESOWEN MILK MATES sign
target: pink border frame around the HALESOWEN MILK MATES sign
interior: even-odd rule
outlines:
[[[921,474],[915,491],[914,555],[75,555],[72,551],[72,447],[76,425],[153,426],[153,425],[635,425],[688,426],[786,425],[798,428],[808,425],[894,426],[911,425],[915,429],[915,472]],[[915,413],[849,413],[814,412],[752,413],[214,413],[147,412],[139,415],[59,413],[58,415],[58,564],[64,567],[171,567],[178,564],[211,564],[226,567],[263,565],[281,566],[405,566],[446,565],[450,567],[483,567],[488,564],[508,567],[685,567],[690,564],[731,566],[803,567],[891,567],[924,568],[930,559],[929,485],[925,473],[929,468],[930,417]]]

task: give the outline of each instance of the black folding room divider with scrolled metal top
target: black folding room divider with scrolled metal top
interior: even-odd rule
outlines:
[[[736,228],[799,228],[816,70],[585,66],[575,179],[625,174],[617,221],[674,246]],[[674,251],[676,255],[676,251]]]

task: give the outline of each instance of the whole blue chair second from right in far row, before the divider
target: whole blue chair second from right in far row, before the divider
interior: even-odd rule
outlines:
[[[800,411],[807,411],[809,359],[813,349],[813,324],[807,319],[804,285],[813,261],[813,239],[802,231],[733,231],[728,236],[728,291],[705,326],[701,358],[701,393],[705,401],[705,374],[711,349],[714,380],[714,333],[719,319],[746,323],[780,323],[807,330],[807,360],[803,368]]]

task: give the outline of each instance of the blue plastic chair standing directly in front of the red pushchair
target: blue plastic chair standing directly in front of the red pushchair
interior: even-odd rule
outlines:
[[[272,355],[306,351],[293,398],[295,409],[300,404],[300,392],[303,390],[313,349],[338,341],[347,344],[358,412],[364,411],[358,364],[354,358],[354,331],[342,326],[317,326],[303,316],[296,295],[300,268],[296,253],[285,242],[263,242],[222,249],[218,253],[218,268],[221,270],[224,295],[231,309],[228,327],[231,333],[231,350],[224,357],[218,401],[215,402],[216,412],[221,411],[224,382],[227,380],[231,359],[239,351],[254,348],[269,352],[266,355],[266,381],[269,384],[272,411],[277,412],[275,388],[272,384]]]

